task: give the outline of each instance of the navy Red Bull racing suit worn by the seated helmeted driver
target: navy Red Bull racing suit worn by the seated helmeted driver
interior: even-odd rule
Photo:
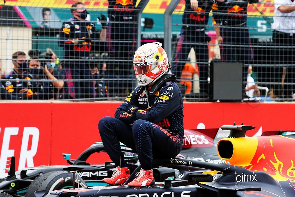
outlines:
[[[179,154],[183,142],[183,100],[174,82],[138,86],[117,108],[115,118],[99,121],[99,133],[112,161],[125,167],[119,141],[137,151],[142,169],[152,168],[153,158]]]

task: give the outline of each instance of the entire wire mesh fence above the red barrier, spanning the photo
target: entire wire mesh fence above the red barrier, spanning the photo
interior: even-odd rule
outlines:
[[[186,101],[211,100],[212,62],[243,63],[245,100],[292,101],[294,10],[198,2],[0,1],[1,99],[124,100],[137,86],[135,50],[158,41]]]

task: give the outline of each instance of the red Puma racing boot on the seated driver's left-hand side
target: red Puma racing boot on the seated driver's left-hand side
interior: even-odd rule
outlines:
[[[115,172],[113,173],[113,177],[104,178],[102,179],[102,181],[110,185],[119,185],[119,184],[123,184],[127,180],[127,178],[129,178],[129,176],[130,176],[130,172],[127,167],[120,168],[118,166]]]

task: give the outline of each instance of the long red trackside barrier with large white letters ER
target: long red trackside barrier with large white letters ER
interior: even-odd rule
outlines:
[[[121,102],[0,102],[0,177],[6,176],[7,157],[16,157],[16,169],[38,165],[65,165],[101,141],[97,124],[114,116]],[[262,131],[295,130],[295,103],[184,103],[184,128],[218,128],[224,124],[255,126],[246,135]],[[109,160],[97,154],[96,162]],[[9,163],[9,162],[8,162]]]

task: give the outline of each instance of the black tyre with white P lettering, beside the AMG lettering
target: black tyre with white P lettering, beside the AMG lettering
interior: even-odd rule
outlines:
[[[77,179],[77,176],[76,176]],[[78,176],[79,187],[85,187],[85,181]],[[76,181],[75,187],[78,188]],[[65,171],[47,172],[39,175],[29,185],[26,197],[35,197],[34,192],[39,190],[45,190],[45,194],[50,193],[53,190],[73,188],[73,173]]]

